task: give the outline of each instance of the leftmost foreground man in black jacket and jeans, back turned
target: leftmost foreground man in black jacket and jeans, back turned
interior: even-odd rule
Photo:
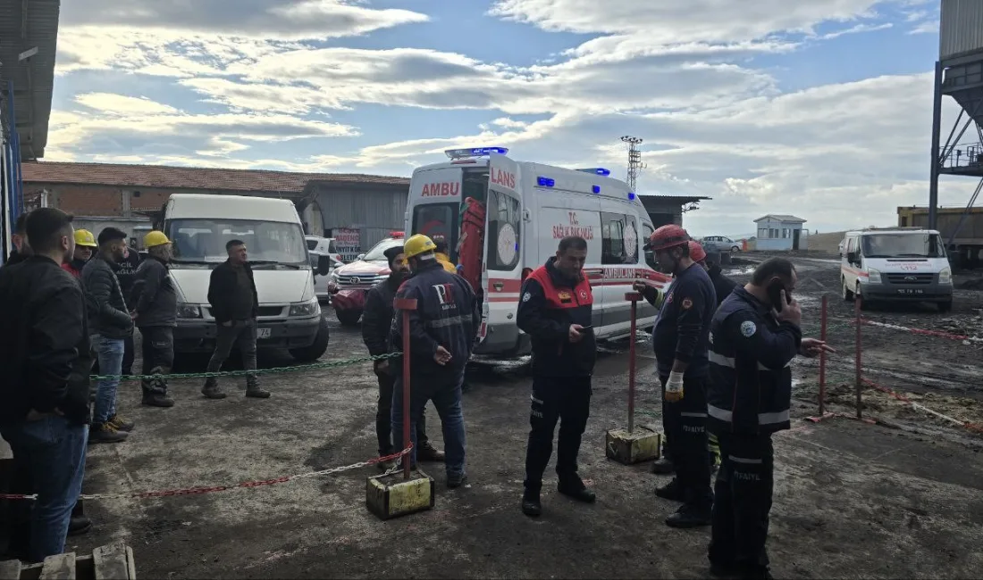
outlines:
[[[61,264],[74,251],[72,218],[32,211],[33,255],[0,269],[0,434],[27,469],[37,494],[29,558],[65,552],[86,465],[88,373],[86,303]]]

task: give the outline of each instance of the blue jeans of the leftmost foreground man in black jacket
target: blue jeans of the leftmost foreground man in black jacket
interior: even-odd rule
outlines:
[[[46,415],[4,425],[0,434],[10,444],[14,461],[29,471],[37,494],[30,512],[31,559],[64,553],[72,508],[82,493],[87,427]]]

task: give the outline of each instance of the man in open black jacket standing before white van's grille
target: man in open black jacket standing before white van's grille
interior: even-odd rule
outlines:
[[[229,258],[215,266],[208,283],[208,303],[215,318],[216,333],[215,351],[208,361],[207,372],[217,373],[229,358],[232,347],[238,346],[243,356],[243,367],[253,371],[246,375],[246,396],[269,398],[269,391],[260,389],[260,379],[255,374],[260,296],[253,279],[253,268],[249,265],[246,242],[230,239],[225,244],[225,251]],[[202,395],[225,398],[214,377],[204,381]]]

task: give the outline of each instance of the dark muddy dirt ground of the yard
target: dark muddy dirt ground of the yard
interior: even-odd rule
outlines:
[[[761,259],[760,255],[744,256]],[[819,304],[830,293],[829,391],[833,410],[854,413],[855,329],[838,298],[837,266],[796,258],[806,330],[818,336]],[[735,278],[749,268],[736,266]],[[742,278],[743,277],[743,278]],[[931,306],[874,311],[874,321],[946,330],[976,324],[980,292],[959,292],[954,312]],[[326,359],[361,356],[357,329],[333,314]],[[945,319],[954,320],[954,323]],[[864,376],[961,420],[983,423],[979,343],[965,345],[863,326]],[[948,332],[952,332],[951,330]],[[980,333],[983,335],[983,333]],[[530,380],[483,368],[464,395],[471,485],[448,491],[440,465],[434,509],[381,522],[365,507],[374,467],[282,485],[139,501],[87,501],[95,528],[72,539],[80,552],[122,539],[144,578],[701,578],[709,530],[663,524],[675,506],[656,498],[664,483],[648,465],[625,467],[604,454],[607,429],[626,423],[626,343],[607,345],[595,380],[581,473],[599,501],[584,506],[545,486],[545,514],[519,510]],[[657,419],[654,361],[639,343],[640,418]],[[266,356],[264,364],[289,364]],[[201,365],[196,361],[194,365]],[[796,362],[799,417],[816,413],[815,361]],[[186,370],[186,369],[182,369]],[[201,370],[201,369],[198,369]],[[514,370],[514,369],[513,369]],[[241,381],[240,393],[242,389]],[[231,388],[233,381],[226,381]],[[268,400],[199,395],[174,384],[171,409],[139,406],[135,386],[120,407],[137,421],[130,441],[89,448],[85,493],[236,484],[344,466],[376,451],[375,378],[368,365],[264,378]],[[865,413],[893,427],[835,418],[795,421],[776,439],[777,484],[769,549],[778,578],[970,578],[983,569],[983,438],[900,401],[867,391]],[[441,439],[431,407],[429,433]]]

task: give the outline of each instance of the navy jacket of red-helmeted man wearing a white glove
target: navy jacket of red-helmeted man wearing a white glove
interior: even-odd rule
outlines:
[[[707,375],[707,343],[715,310],[717,294],[703,266],[693,264],[675,277],[652,333],[660,377],[669,376],[675,360],[689,363],[686,377]]]

